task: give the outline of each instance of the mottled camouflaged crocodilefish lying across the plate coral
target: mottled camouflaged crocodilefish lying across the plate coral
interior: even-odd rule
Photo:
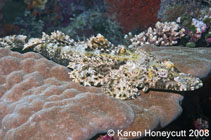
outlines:
[[[101,34],[78,42],[60,31],[28,41],[25,36],[0,39],[0,47],[17,46],[33,48],[60,64],[68,62],[73,81],[102,87],[105,94],[121,100],[136,98],[140,90],[190,91],[203,85],[199,78],[177,70],[171,61],[157,59],[140,48],[114,46]]]

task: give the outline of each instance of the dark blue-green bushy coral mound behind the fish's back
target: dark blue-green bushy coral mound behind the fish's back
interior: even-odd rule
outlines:
[[[97,7],[72,17],[71,23],[62,31],[80,40],[101,33],[115,44],[123,42],[119,24],[104,14],[104,8]]]

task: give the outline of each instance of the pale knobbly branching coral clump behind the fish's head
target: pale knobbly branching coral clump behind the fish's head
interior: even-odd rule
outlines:
[[[146,32],[141,32],[134,37],[130,34],[125,35],[125,38],[136,47],[144,44],[172,46],[177,44],[177,40],[184,36],[184,32],[185,30],[180,29],[176,22],[157,22],[154,29],[149,27]]]

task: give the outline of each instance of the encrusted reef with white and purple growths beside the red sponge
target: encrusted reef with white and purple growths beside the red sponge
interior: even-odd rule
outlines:
[[[211,8],[202,0],[165,1],[166,8],[160,11],[162,21],[176,21],[181,28],[185,29],[185,36],[178,45],[186,47],[211,46],[209,32],[211,29]],[[163,12],[163,13],[162,13]],[[162,14],[161,14],[162,13]]]

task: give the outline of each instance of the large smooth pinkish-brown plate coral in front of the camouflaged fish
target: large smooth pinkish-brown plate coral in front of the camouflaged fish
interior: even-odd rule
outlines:
[[[40,54],[0,48],[0,139],[87,140],[108,129],[165,127],[182,112],[183,96],[150,91],[117,100],[71,81],[68,68]]]

